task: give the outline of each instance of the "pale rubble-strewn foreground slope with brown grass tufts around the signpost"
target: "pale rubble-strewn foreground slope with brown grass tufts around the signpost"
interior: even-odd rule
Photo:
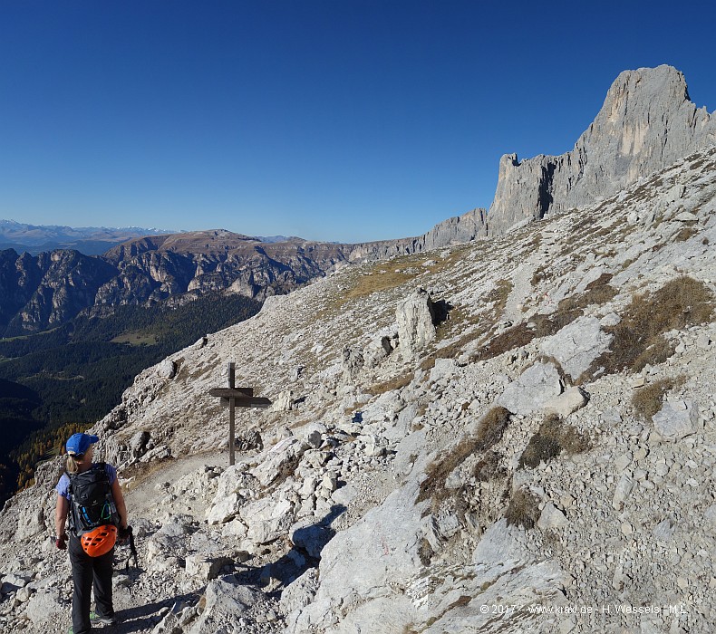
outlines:
[[[708,632],[716,148],[509,236],[348,267],[141,373],[93,431],[120,631]],[[237,361],[274,401],[208,390]],[[63,631],[56,463],[0,516],[10,630]],[[32,545],[34,544],[34,545]]]

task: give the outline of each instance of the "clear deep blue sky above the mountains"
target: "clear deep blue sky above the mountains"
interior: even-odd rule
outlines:
[[[0,0],[0,217],[353,242],[488,207],[617,74],[716,109],[712,2]]]

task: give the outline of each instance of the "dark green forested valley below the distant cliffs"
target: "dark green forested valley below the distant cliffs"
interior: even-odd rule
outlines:
[[[32,479],[58,428],[89,427],[120,402],[141,370],[259,309],[247,297],[216,293],[175,309],[108,308],[105,316],[0,341],[0,465],[6,467],[0,502],[12,494],[15,478]],[[33,433],[31,445],[39,448],[20,449]]]

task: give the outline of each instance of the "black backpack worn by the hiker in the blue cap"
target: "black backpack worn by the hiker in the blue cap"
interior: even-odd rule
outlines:
[[[98,526],[117,526],[119,514],[111,496],[110,477],[104,463],[93,465],[81,474],[70,477],[70,530],[77,537]]]

